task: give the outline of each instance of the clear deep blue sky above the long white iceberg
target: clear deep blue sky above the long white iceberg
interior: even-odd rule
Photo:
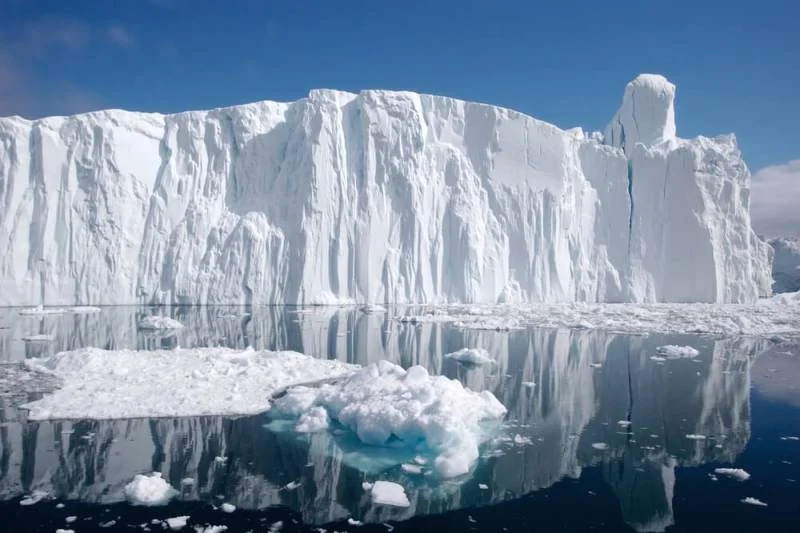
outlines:
[[[117,0],[0,3],[0,115],[172,112],[408,89],[601,129],[640,72],[678,134],[800,159],[800,2]]]

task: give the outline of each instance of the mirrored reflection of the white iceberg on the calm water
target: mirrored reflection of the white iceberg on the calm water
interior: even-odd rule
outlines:
[[[296,311],[266,308],[243,316],[241,309],[175,309],[172,316],[187,327],[166,338],[136,330],[140,310],[6,316],[0,350],[6,361],[19,361],[87,345],[253,345],[362,364],[421,364],[473,389],[493,391],[509,409],[512,438],[487,447],[469,479],[437,484],[404,473],[396,461],[364,457],[363,450],[348,446],[346,435],[273,431],[261,416],[28,423],[14,408],[17,400],[4,397],[0,498],[40,489],[67,499],[116,502],[134,474],[160,470],[186,499],[217,501],[221,495],[240,508],[283,504],[310,523],[348,516],[382,521],[516,498],[599,466],[625,520],[640,531],[661,531],[674,522],[675,468],[730,462],[746,446],[749,368],[766,348],[748,339],[476,332],[401,324],[384,313]],[[52,335],[53,341],[20,340],[33,333]],[[651,359],[663,344],[688,344],[700,356]],[[497,365],[466,367],[443,357],[465,346],[486,348]],[[5,368],[0,374],[12,366]],[[411,507],[372,507],[361,483],[377,475],[401,482]],[[191,484],[182,484],[189,478]],[[293,482],[299,486],[292,489]]]

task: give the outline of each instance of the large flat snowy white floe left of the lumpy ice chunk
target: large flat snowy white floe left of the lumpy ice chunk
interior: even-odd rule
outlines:
[[[26,364],[63,381],[25,405],[32,420],[255,414],[269,409],[283,388],[358,368],[297,352],[228,348],[83,348]]]

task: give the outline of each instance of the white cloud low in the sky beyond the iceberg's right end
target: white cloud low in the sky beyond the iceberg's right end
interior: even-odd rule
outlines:
[[[757,233],[800,237],[800,159],[762,168],[753,175],[750,188]]]

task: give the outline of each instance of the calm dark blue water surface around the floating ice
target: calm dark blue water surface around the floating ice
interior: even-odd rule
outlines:
[[[475,332],[358,310],[165,312],[187,327],[145,335],[136,329],[143,311],[130,308],[42,319],[0,311],[0,530],[163,531],[159,520],[179,515],[189,515],[192,527],[228,531],[268,531],[279,521],[281,531],[328,532],[800,530],[800,440],[786,438],[800,437],[796,346],[597,331]],[[22,340],[41,334],[52,341]],[[663,344],[690,345],[700,356],[651,359]],[[396,457],[347,434],[298,436],[276,431],[265,416],[35,423],[16,408],[52,386],[21,381],[25,358],[82,346],[176,345],[420,364],[491,390],[509,410],[504,439],[485,447],[472,474],[442,483],[403,472]],[[444,359],[465,346],[488,349],[498,364],[470,368]],[[752,477],[712,477],[728,466]],[[180,487],[180,497],[158,508],[125,503],[124,485],[150,471]],[[192,483],[182,485],[184,479]],[[411,507],[372,506],[361,484],[376,479],[401,483]],[[21,506],[35,490],[50,499]],[[768,506],[741,503],[745,497]],[[215,508],[222,502],[236,512]],[[77,518],[67,524],[68,516]]]

